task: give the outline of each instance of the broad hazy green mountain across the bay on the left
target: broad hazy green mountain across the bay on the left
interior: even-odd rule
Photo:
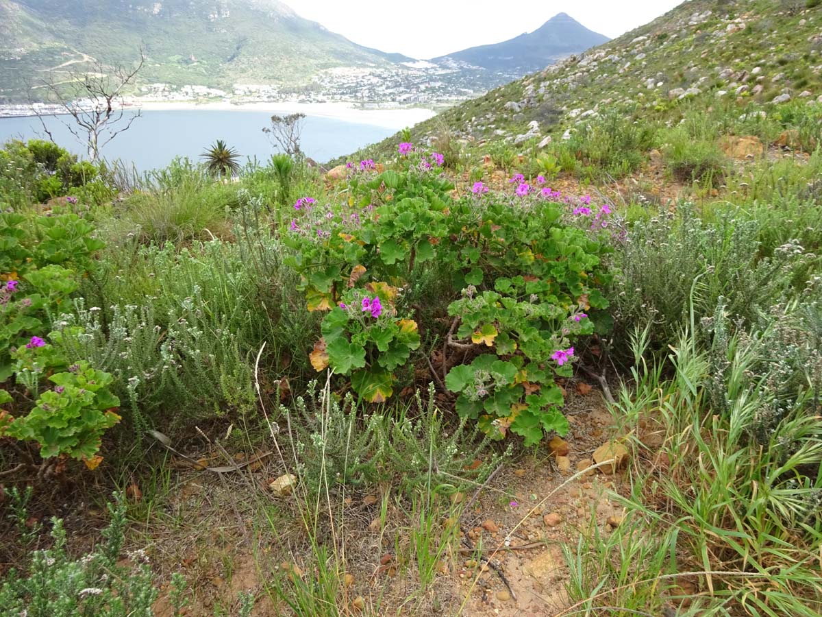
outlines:
[[[277,0],[0,0],[0,99],[87,56],[132,63],[141,46],[143,82],[229,92],[235,83],[298,90],[325,69],[411,59],[354,44]]]

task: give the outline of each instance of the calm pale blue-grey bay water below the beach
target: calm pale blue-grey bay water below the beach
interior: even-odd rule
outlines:
[[[133,164],[142,172],[164,167],[175,156],[197,160],[211,143],[222,139],[238,151],[242,160],[256,157],[265,162],[275,153],[275,147],[262,132],[262,128],[269,125],[270,117],[270,112],[244,109],[143,111],[131,128],[103,147],[101,155],[106,160],[119,159],[127,165]],[[60,146],[85,156],[85,146],[65,125],[72,122],[70,116],[44,119]],[[394,128],[386,126],[384,121],[377,125],[307,116],[303,123],[302,151],[323,163],[381,141],[403,127],[404,123]],[[0,118],[0,143],[12,138],[35,137],[47,138],[38,118]]]

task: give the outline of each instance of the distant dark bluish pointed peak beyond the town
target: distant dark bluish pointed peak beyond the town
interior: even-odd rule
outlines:
[[[435,58],[433,62],[450,59],[490,71],[516,73],[519,77],[539,71],[558,58],[580,53],[607,40],[607,36],[589,30],[566,13],[559,13],[531,33],[502,43],[449,53]]]

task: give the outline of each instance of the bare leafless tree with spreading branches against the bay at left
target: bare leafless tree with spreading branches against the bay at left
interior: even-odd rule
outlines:
[[[128,86],[134,85],[137,73],[144,64],[145,53],[141,49],[140,58],[130,68],[120,65],[108,67],[86,56],[84,62],[77,63],[78,67],[85,65],[85,70],[72,68],[56,72],[53,69],[48,79],[30,88],[30,94],[33,94],[31,90],[43,90],[45,96],[42,100],[61,108],[61,115],[43,113],[35,108],[48,138],[54,141],[44,117],[53,115],[60,119],[77,141],[85,144],[90,160],[99,159],[103,146],[131,128],[141,115],[139,110],[126,114],[124,92]],[[34,100],[35,97],[30,98]],[[63,120],[64,115],[71,116],[73,122]]]

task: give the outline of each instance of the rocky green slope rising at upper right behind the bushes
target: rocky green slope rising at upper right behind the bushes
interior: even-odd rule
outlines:
[[[737,130],[756,134],[755,118],[790,114],[802,104],[820,109],[806,130],[822,134],[822,2],[689,0],[606,44],[447,109],[411,136],[432,143],[447,128],[451,142],[477,160],[498,147],[550,149],[547,137],[564,141],[615,115],[665,127],[679,123],[686,109],[722,108],[734,122],[750,124]],[[353,156],[383,159],[398,140]]]

